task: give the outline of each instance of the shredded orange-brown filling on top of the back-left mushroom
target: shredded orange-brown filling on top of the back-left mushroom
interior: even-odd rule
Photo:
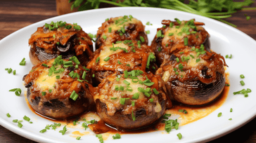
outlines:
[[[76,55],[82,55],[84,51],[92,53],[91,38],[82,28],[74,23],[51,22],[43,27],[38,27],[37,32],[31,35],[30,47],[34,50],[41,48],[46,53],[57,54],[72,49]]]

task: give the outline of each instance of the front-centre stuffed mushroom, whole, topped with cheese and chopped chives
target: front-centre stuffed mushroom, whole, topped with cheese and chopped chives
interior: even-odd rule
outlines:
[[[116,72],[98,85],[94,101],[105,123],[122,130],[138,130],[151,125],[172,107],[160,76],[141,70]]]

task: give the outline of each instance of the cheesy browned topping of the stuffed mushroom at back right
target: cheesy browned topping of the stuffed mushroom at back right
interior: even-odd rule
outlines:
[[[158,65],[167,60],[167,56],[171,55],[175,50],[187,48],[188,46],[200,46],[203,44],[205,49],[210,51],[210,34],[200,25],[201,22],[181,21],[172,22],[170,20],[162,20],[164,25],[158,28],[158,34],[152,41],[152,48],[155,51],[155,56],[158,59]],[[184,39],[188,39],[187,45],[184,44]]]

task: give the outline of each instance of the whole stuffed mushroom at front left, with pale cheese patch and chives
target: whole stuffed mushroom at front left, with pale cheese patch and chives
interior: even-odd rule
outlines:
[[[35,111],[50,118],[82,114],[94,106],[87,73],[75,56],[46,60],[24,77],[27,100]]]

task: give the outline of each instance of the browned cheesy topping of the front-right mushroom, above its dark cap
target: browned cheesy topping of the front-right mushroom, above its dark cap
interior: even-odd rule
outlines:
[[[168,56],[156,74],[160,74],[165,82],[199,80],[207,84],[217,80],[217,72],[224,76],[226,63],[222,55],[207,50],[196,52],[196,49],[199,50],[200,47],[183,48]],[[202,51],[204,54],[199,55]]]

